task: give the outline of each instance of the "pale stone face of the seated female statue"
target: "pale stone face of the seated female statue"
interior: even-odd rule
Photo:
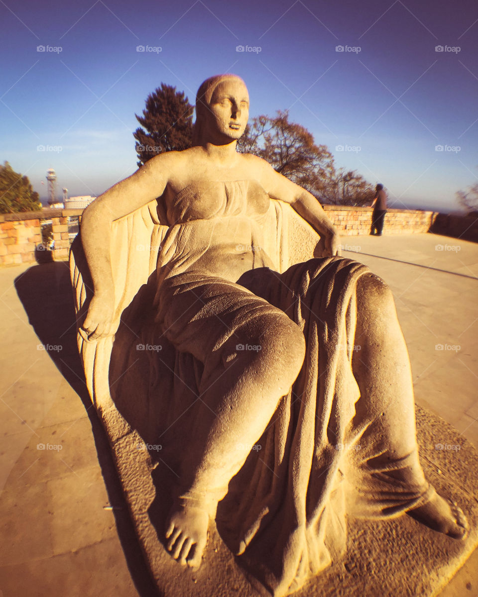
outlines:
[[[249,94],[239,79],[225,79],[213,92],[210,124],[230,139],[239,139],[249,119]]]

